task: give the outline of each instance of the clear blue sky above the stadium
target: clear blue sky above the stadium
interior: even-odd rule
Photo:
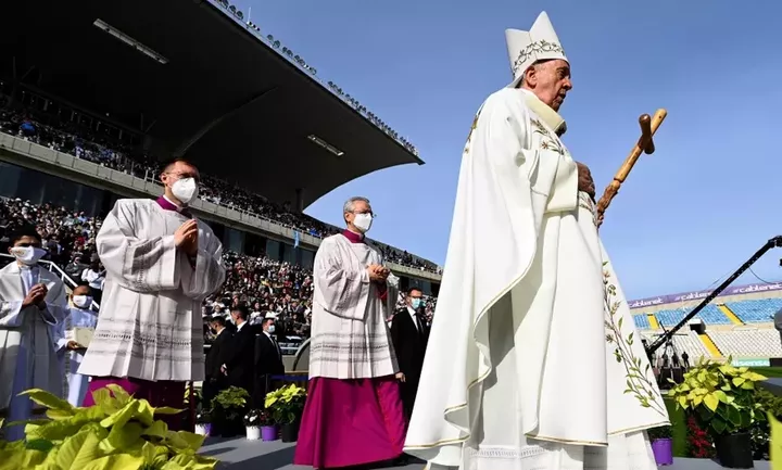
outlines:
[[[504,30],[528,29],[545,10],[573,73],[564,140],[592,168],[598,193],[638,139],[639,115],[669,112],[657,152],[639,162],[602,229],[630,297],[708,288],[782,234],[782,2],[235,4],[251,8],[264,35],[356,97],[427,162],[332,191],[307,208],[317,218],[341,225],[343,201],[365,195],[379,214],[373,238],[444,264],[469,126],[483,99],[510,80]],[[781,279],[781,256],[771,252],[755,275]],[[757,282],[755,275],[741,281]]]

